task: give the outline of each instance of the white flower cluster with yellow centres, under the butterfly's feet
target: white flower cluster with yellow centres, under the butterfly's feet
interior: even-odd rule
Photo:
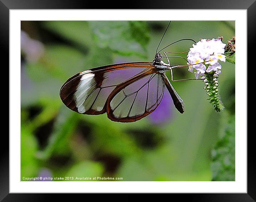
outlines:
[[[196,45],[193,44],[187,55],[188,71],[194,72],[195,69],[197,79],[205,75],[205,72],[211,71],[214,71],[214,76],[217,77],[221,73],[221,64],[218,60],[226,62],[226,56],[223,55],[225,46],[221,39],[201,39]]]

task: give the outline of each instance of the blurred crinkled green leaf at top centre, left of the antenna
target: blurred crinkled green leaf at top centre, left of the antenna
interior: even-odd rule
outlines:
[[[89,21],[94,34],[93,39],[98,47],[109,48],[111,51],[128,56],[137,55],[146,57],[146,44],[148,42],[147,30],[142,32],[137,23],[130,24],[128,21]],[[134,38],[134,36],[136,36]]]

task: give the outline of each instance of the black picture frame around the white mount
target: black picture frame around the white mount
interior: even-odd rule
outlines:
[[[120,1],[120,3],[123,2]],[[85,0],[0,0],[0,43],[3,49],[2,71],[9,67],[9,10],[10,9],[122,9],[121,4],[110,3],[109,1],[94,4],[94,1]],[[247,66],[252,65],[255,51],[255,24],[256,24],[256,2],[255,0],[225,0],[225,1],[133,1],[125,2],[125,9],[246,9],[247,10]],[[246,64],[246,59],[245,59]],[[244,68],[244,67],[241,67]],[[8,78],[12,72],[8,71]],[[7,77],[3,74],[2,79]],[[6,83],[5,83],[6,84]],[[248,86],[250,87],[250,86]],[[3,88],[5,89],[5,88]],[[2,90],[3,90],[2,89]],[[3,93],[3,91],[2,91]],[[9,95],[9,93],[8,93]],[[244,98],[247,99],[247,98]],[[11,107],[9,105],[9,107]],[[240,134],[244,135],[244,134]],[[179,200],[189,201],[256,201],[256,169],[255,169],[255,150],[253,134],[247,135],[247,193],[189,193],[176,194]],[[53,194],[21,194],[9,193],[9,137],[5,133],[1,136],[2,146],[0,147],[0,201],[46,201],[52,199]],[[59,197],[59,196],[58,196]],[[60,198],[59,198],[60,199]],[[65,195],[67,200],[67,195]]]

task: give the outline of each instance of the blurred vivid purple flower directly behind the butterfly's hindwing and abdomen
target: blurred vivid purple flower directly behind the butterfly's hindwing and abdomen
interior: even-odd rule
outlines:
[[[172,118],[173,101],[169,92],[165,89],[163,99],[159,106],[148,115],[149,120],[154,124],[166,123]]]

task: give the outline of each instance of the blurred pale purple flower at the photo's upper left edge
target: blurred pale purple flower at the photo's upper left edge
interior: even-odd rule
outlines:
[[[37,40],[31,39],[29,35],[21,30],[20,48],[28,62],[36,62],[44,54],[44,45]]]

